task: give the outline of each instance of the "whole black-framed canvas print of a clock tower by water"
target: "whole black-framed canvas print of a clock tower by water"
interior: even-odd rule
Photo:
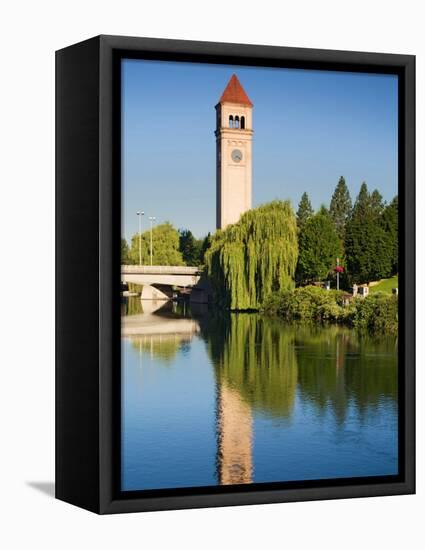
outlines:
[[[56,54],[56,496],[413,493],[413,56]]]

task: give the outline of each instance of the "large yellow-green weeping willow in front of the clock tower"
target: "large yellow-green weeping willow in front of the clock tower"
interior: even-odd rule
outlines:
[[[245,212],[213,236],[205,254],[216,300],[232,310],[258,309],[265,297],[294,286],[297,223],[289,201]]]

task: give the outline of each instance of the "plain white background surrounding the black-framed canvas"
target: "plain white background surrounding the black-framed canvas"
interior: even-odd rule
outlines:
[[[416,54],[421,274],[425,236],[421,4],[412,0],[22,0],[2,4],[0,546],[64,550],[424,547],[421,319],[417,496],[97,517],[55,501],[31,485],[47,483],[49,488],[54,476],[54,51],[97,34],[123,34]],[[424,310],[423,296],[421,292],[419,311]]]

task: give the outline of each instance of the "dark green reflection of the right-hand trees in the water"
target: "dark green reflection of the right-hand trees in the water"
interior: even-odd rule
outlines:
[[[397,403],[397,341],[340,327],[300,327],[296,337],[302,401],[319,413],[329,408],[339,423],[348,407],[360,418],[383,400]]]

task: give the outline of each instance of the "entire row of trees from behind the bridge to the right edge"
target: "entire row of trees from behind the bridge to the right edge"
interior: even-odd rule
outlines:
[[[295,234],[292,220],[296,223]],[[284,239],[284,235],[290,238]],[[133,235],[130,245],[122,239],[122,263],[149,264],[150,239],[150,230]],[[303,193],[296,216],[288,202],[274,201],[245,213],[225,231],[201,239],[195,238],[189,229],[177,230],[165,222],[153,228],[152,241],[154,265],[205,264],[217,281],[221,280],[218,277],[221,270],[223,284],[235,279],[231,287],[232,292],[239,289],[238,297],[235,294],[231,301],[238,303],[246,301],[253,292],[258,296],[254,299],[252,294],[248,301],[257,303],[263,293],[258,290],[262,285],[267,287],[265,291],[271,289],[270,285],[274,289],[283,276],[277,267],[283,263],[278,258],[281,253],[288,255],[289,250],[296,251],[290,254],[291,266],[294,257],[298,258],[293,274],[298,286],[332,280],[338,258],[344,270],[340,275],[341,288],[348,288],[353,283],[368,283],[398,272],[398,198],[395,196],[387,204],[378,190],[369,192],[363,183],[352,204],[341,176],[329,207],[322,205],[316,212],[308,194]],[[278,263],[275,265],[273,261]],[[270,264],[270,274],[266,264]],[[247,287],[243,297],[242,288],[245,283],[249,286],[251,275],[255,288]]]

